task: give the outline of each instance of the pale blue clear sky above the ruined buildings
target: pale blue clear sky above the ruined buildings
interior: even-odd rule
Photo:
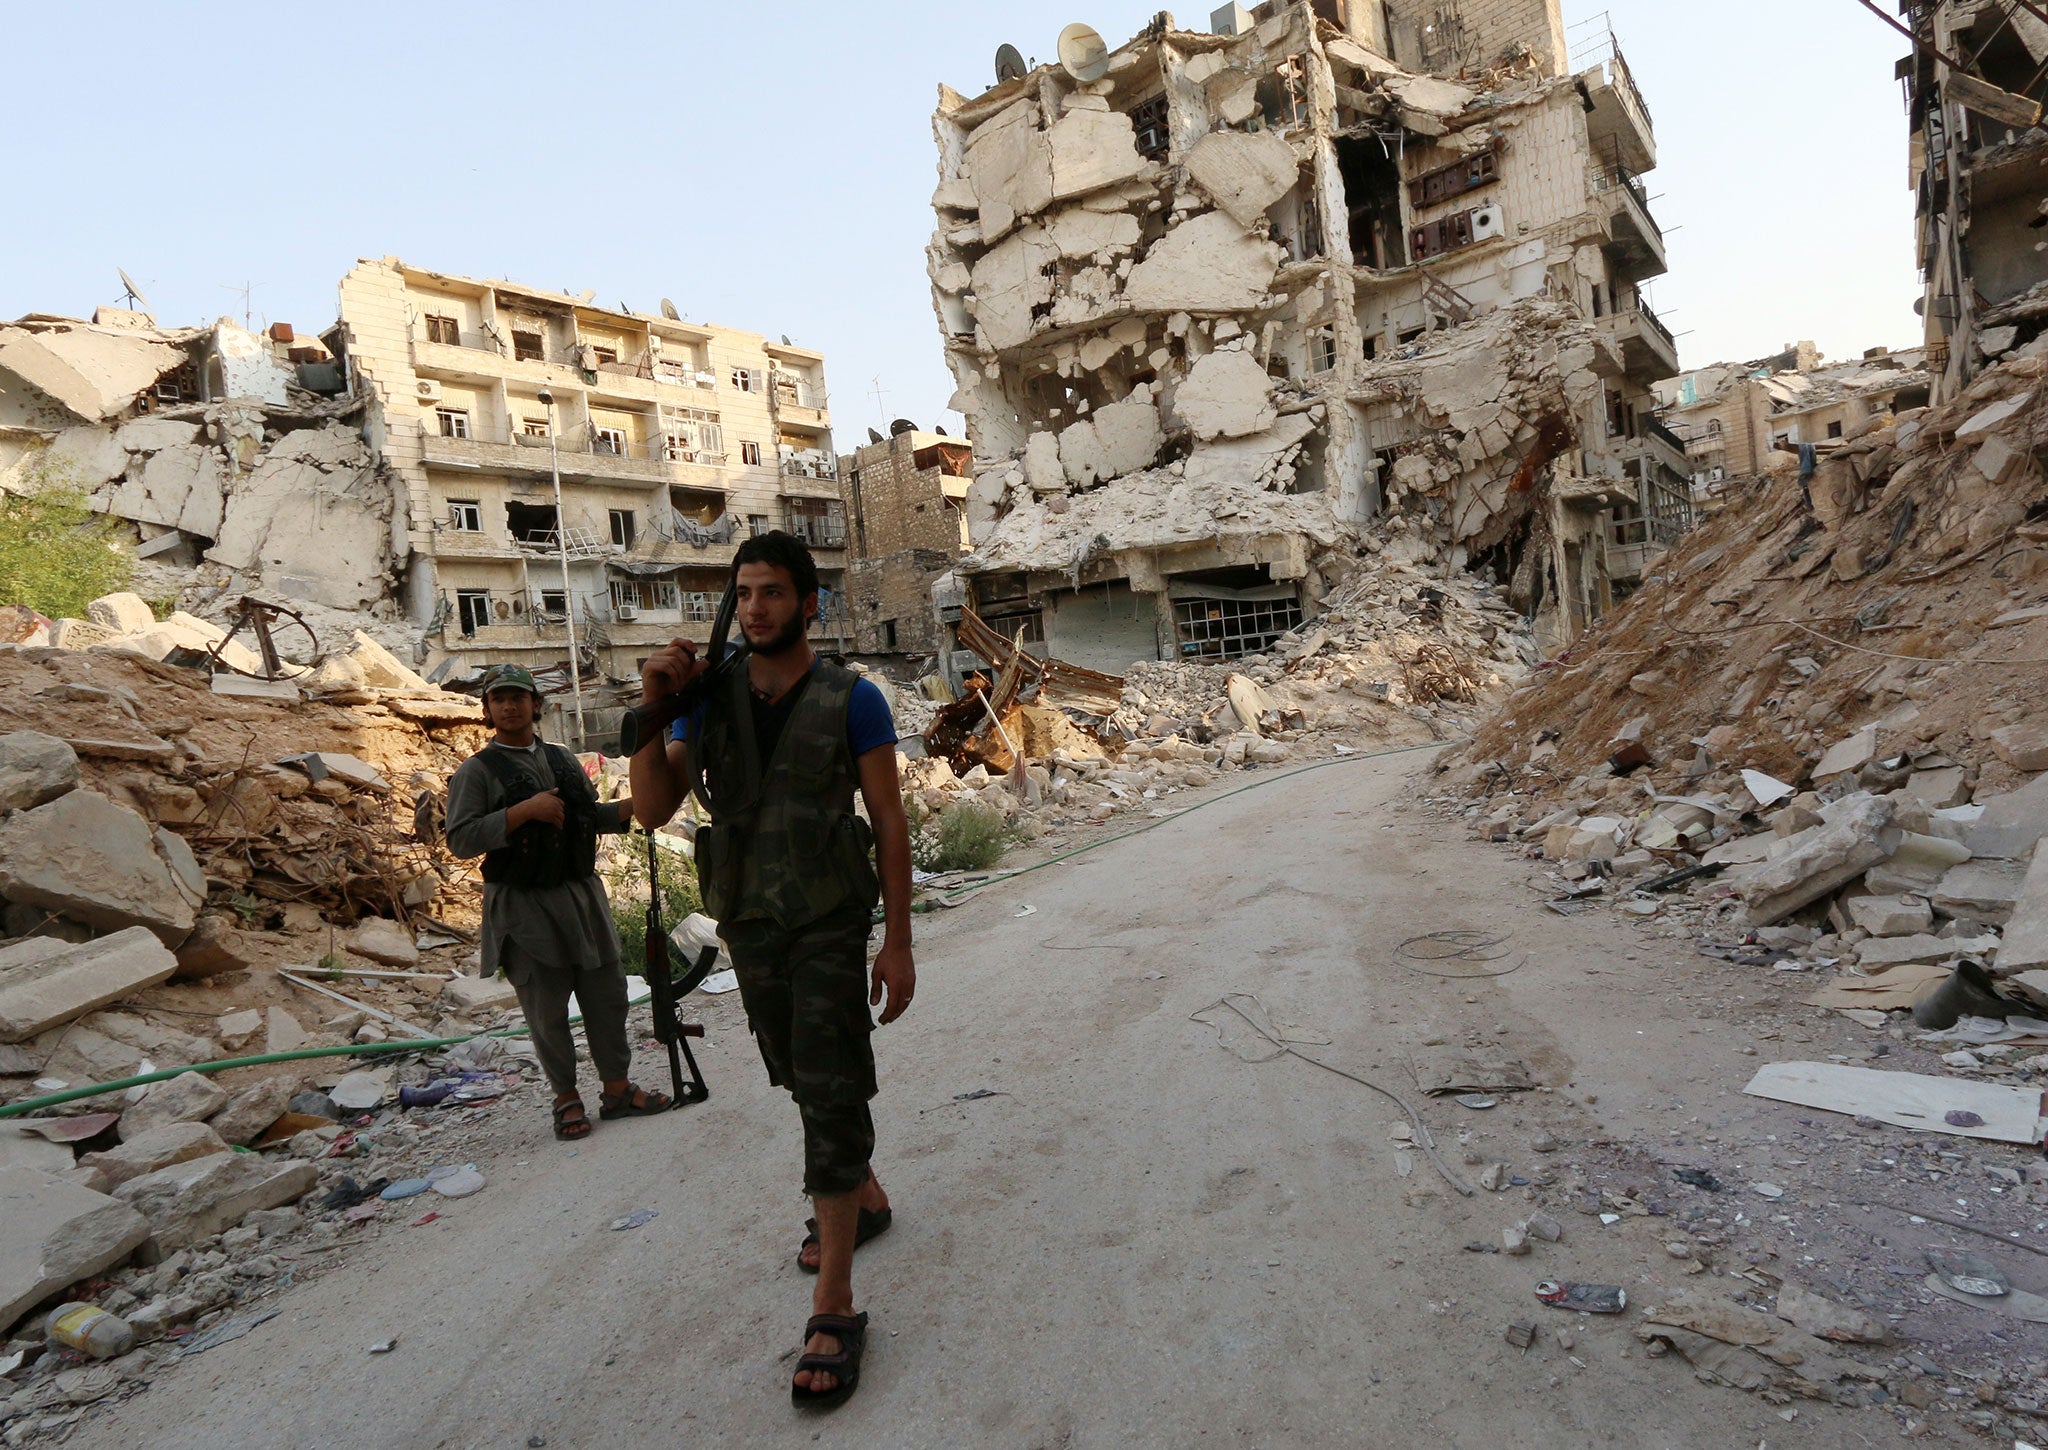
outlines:
[[[825,352],[842,446],[895,416],[956,430],[924,274],[936,86],[1153,12],[14,6],[0,317],[88,315],[125,266],[166,326],[240,317],[248,283],[256,324],[317,332],[354,258],[395,254],[788,334]],[[1573,43],[1604,14],[1567,0]],[[1612,27],[1655,117],[1651,293],[1686,365],[1917,342],[1905,39],[1855,0],[1612,0]]]

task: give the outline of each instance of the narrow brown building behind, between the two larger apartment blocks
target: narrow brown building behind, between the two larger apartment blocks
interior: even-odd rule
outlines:
[[[932,586],[967,547],[973,446],[899,418],[889,438],[840,459],[850,524],[846,604],[854,651],[934,655],[944,645]]]

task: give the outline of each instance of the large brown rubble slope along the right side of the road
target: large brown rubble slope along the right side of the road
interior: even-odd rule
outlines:
[[[2042,352],[1784,455],[1442,762],[1456,809],[1559,909],[1841,967],[1808,1001],[2048,1071]]]

